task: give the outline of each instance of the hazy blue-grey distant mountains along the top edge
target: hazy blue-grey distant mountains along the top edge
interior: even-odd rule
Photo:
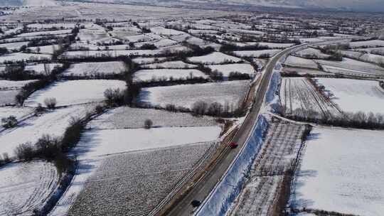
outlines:
[[[0,0],[0,6],[51,6],[55,0]],[[384,0],[63,0],[95,1],[156,6],[265,6],[285,9],[384,12]]]

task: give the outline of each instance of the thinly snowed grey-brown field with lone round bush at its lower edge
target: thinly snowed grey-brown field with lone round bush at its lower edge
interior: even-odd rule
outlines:
[[[151,119],[153,127],[218,125],[213,117],[193,117],[188,113],[168,112],[161,109],[117,107],[93,119],[87,127],[91,129],[142,128],[146,119]]]

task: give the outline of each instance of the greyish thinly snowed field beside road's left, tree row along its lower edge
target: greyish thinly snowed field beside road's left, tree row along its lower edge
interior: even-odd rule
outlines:
[[[153,106],[166,107],[167,104],[174,104],[176,107],[186,108],[191,108],[198,101],[208,104],[218,102],[237,109],[249,87],[249,81],[147,87],[142,89],[139,101]]]

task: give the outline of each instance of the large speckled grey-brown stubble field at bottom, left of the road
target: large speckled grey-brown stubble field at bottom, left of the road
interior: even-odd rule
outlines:
[[[122,153],[102,161],[100,157],[89,160],[92,164],[96,160],[101,162],[96,167],[85,164],[83,169],[79,169],[80,175],[93,174],[88,175],[90,177],[86,182],[81,180],[84,179],[82,176],[75,175],[65,194],[69,202],[63,199],[59,205],[63,203],[63,212],[66,205],[71,205],[69,216],[121,215],[122,212],[126,215],[148,215],[178,182],[188,179],[188,173],[203,163],[213,149],[215,144],[208,142]],[[71,190],[73,187],[75,190]],[[78,193],[76,188],[83,190]]]

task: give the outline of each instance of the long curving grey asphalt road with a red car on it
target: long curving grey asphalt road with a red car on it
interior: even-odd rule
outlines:
[[[333,41],[336,43],[337,41]],[[203,178],[198,180],[198,182],[193,186],[193,188],[188,192],[184,198],[174,206],[174,208],[169,212],[168,215],[171,216],[186,216],[193,214],[193,207],[191,206],[191,202],[193,200],[199,200],[203,202],[210,191],[215,188],[215,185],[220,181],[220,178],[224,175],[225,171],[229,168],[230,164],[233,162],[235,157],[240,152],[242,146],[246,143],[248,136],[253,131],[255,124],[257,123],[257,117],[259,115],[260,109],[265,99],[265,94],[267,92],[268,86],[270,84],[270,79],[273,74],[274,67],[277,65],[277,62],[282,58],[283,55],[289,55],[297,51],[297,49],[306,48],[308,45],[313,44],[303,44],[295,46],[294,48],[289,48],[287,50],[282,51],[281,53],[275,55],[270,62],[267,64],[265,68],[265,72],[262,75],[262,81],[260,82],[260,87],[257,88],[255,100],[250,110],[249,114],[245,118],[244,122],[240,126],[240,129],[237,134],[233,137],[233,141],[235,141],[239,146],[235,149],[226,148],[222,153],[220,158],[218,158],[217,163],[213,166],[210,171],[203,175]],[[318,44],[318,43],[316,43]]]

